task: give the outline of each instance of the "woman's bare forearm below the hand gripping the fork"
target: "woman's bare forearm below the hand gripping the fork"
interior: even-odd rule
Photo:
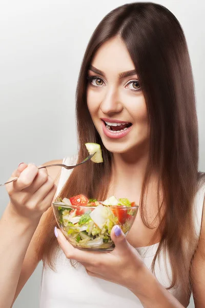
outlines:
[[[15,215],[7,206],[0,220],[0,306],[12,304],[27,248],[38,222]]]

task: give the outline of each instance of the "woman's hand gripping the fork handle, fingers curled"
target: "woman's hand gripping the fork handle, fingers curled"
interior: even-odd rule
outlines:
[[[25,163],[18,166],[10,180],[13,177],[18,179],[6,184],[6,189],[14,213],[31,221],[39,220],[52,204],[57,188],[54,180],[46,168]]]

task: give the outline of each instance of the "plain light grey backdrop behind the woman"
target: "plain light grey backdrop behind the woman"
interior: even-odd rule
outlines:
[[[110,10],[125,3],[121,0],[0,2],[0,183],[11,176],[20,162],[39,165],[76,153],[75,88],[80,64],[97,24]],[[187,37],[197,98],[199,167],[204,171],[205,3],[203,0],[157,3],[175,14]],[[5,187],[0,189],[1,216],[8,196]],[[41,271],[39,264],[14,308],[38,307]],[[189,307],[194,307],[193,302]]]

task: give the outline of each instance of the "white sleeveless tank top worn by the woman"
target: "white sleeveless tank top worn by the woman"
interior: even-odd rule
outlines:
[[[66,157],[63,160],[65,164],[74,164],[76,157]],[[56,196],[60,189],[66,183],[71,170],[61,169],[61,175],[56,191]],[[197,235],[200,234],[201,217],[203,208],[205,185],[197,192],[194,202],[195,228]],[[136,250],[143,258],[148,268],[151,268],[153,257],[157,251],[158,243],[138,247]],[[165,262],[167,263],[168,273],[166,272]],[[40,288],[40,308],[143,308],[139,299],[126,287],[108,282],[103,279],[90,277],[84,266],[78,263],[77,267],[72,267],[63,251],[60,250],[55,262],[56,272],[49,267],[43,268],[42,283]],[[155,263],[155,276],[157,280],[165,287],[170,285],[171,265],[168,257],[163,258],[162,252],[160,258]],[[186,298],[180,286],[169,290],[174,297],[185,307],[189,305],[189,299]]]

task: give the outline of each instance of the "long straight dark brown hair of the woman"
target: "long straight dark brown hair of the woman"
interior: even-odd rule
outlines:
[[[86,142],[96,142],[103,150],[104,163],[88,162],[72,171],[59,197],[85,194],[88,198],[107,197],[112,164],[110,153],[101,142],[87,108],[87,72],[101,44],[119,35],[127,46],[145,96],[150,125],[150,152],[140,198],[140,215],[145,225],[146,191],[152,170],[158,170],[163,189],[165,214],[158,230],[161,240],[152,270],[161,248],[167,250],[172,267],[170,287],[180,282],[190,293],[190,265],[196,235],[193,202],[198,189],[198,127],[194,83],[185,35],[176,17],[154,3],[131,3],[108,13],[95,29],[88,43],[76,89],[78,161],[87,156]],[[39,258],[54,264],[57,241],[52,208],[45,230],[39,237]],[[190,252],[190,253],[189,253]],[[183,273],[183,275],[181,275]],[[168,288],[168,289],[169,289]]]

